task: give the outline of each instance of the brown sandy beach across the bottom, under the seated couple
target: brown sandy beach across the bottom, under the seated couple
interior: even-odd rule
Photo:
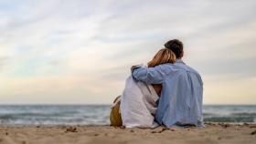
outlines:
[[[253,132],[254,131],[254,132]],[[0,144],[256,144],[256,124],[207,124],[205,129],[120,129],[108,126],[0,127]]]

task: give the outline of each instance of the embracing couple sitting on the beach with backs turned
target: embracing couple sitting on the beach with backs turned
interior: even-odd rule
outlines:
[[[163,125],[204,127],[203,82],[183,61],[183,44],[165,43],[145,66],[133,66],[123,94],[114,100],[111,125],[155,128]]]

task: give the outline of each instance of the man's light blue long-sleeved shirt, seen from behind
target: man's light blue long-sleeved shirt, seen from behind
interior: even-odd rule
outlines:
[[[162,84],[155,120],[166,127],[204,127],[203,82],[200,75],[182,60],[175,64],[133,69],[133,78],[146,84]]]

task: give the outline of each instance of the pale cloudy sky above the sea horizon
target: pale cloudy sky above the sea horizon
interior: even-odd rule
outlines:
[[[130,67],[185,46],[204,104],[256,104],[254,0],[0,0],[1,104],[110,104]]]

